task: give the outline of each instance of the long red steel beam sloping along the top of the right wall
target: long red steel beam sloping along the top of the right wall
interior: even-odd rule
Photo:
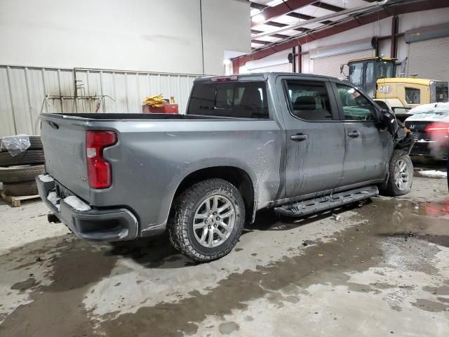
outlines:
[[[265,58],[268,55],[272,55],[279,51],[284,51],[289,48],[293,48],[294,46],[307,44],[310,41],[323,39],[325,37],[330,37],[332,35],[346,32],[349,29],[353,29],[356,27],[360,27],[363,25],[368,25],[369,23],[375,22],[377,20],[382,20],[384,18],[389,18],[390,16],[420,12],[420,11],[429,11],[431,9],[437,8],[445,8],[449,7],[449,0],[427,0],[421,2],[415,2],[413,4],[398,4],[395,6],[389,6],[387,8],[380,8],[380,11],[376,11],[374,13],[370,13],[367,15],[359,15],[357,19],[352,19],[351,21],[343,22],[340,25],[335,25],[328,29],[323,29],[319,32],[310,32],[304,37],[299,37],[297,39],[292,39],[281,44],[275,44],[270,46],[267,49],[262,51],[256,51],[255,53],[251,53],[248,55],[243,55],[238,58],[239,66],[245,65],[248,61],[260,60],[261,58]]]

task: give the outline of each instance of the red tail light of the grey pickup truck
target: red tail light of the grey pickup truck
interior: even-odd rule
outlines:
[[[87,173],[91,188],[111,187],[111,163],[103,158],[103,150],[115,143],[117,143],[117,135],[114,131],[87,131]]]

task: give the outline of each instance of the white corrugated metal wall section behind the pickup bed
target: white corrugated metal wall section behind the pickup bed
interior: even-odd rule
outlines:
[[[76,105],[73,98],[60,99],[74,96],[75,74],[76,83],[83,87],[77,91]],[[0,65],[0,136],[39,134],[41,112],[95,112],[95,99],[88,96],[111,97],[102,100],[99,112],[130,113],[142,112],[147,95],[162,93],[165,98],[174,96],[183,113],[198,76]]]

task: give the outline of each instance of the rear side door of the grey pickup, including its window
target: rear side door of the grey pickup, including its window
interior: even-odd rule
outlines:
[[[286,128],[286,197],[335,188],[342,177],[344,126],[330,82],[280,77]]]

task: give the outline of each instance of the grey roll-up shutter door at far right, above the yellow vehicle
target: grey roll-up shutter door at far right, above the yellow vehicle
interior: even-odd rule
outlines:
[[[408,49],[408,77],[449,81],[449,37],[416,41]]]

